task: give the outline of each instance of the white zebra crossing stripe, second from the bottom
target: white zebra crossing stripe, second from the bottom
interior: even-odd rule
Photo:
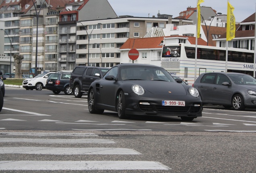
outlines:
[[[38,154],[38,155],[141,155],[138,151],[126,148],[88,147],[0,147],[0,154]]]

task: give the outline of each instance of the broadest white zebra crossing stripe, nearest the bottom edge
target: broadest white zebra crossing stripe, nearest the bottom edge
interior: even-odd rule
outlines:
[[[0,170],[169,170],[155,161],[0,161]]]

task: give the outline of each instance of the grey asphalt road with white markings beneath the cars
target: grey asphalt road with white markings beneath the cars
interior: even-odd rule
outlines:
[[[90,114],[86,97],[6,87],[0,172],[256,172],[254,109],[120,120]]]

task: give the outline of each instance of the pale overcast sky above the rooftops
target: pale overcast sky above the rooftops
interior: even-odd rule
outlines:
[[[173,18],[187,7],[196,7],[197,0],[108,0],[118,16],[152,17],[157,13],[169,14]],[[229,0],[235,8],[235,22],[242,22],[256,11],[256,0]],[[200,6],[211,7],[227,14],[227,0],[204,0]]]

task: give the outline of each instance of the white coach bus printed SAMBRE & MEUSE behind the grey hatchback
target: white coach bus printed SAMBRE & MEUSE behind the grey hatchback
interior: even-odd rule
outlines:
[[[179,76],[189,84],[194,83],[196,45],[175,43],[164,44],[161,66],[170,74]],[[196,77],[204,72],[225,72],[226,48],[197,46]],[[228,48],[228,72],[240,72],[253,76],[254,51]]]

